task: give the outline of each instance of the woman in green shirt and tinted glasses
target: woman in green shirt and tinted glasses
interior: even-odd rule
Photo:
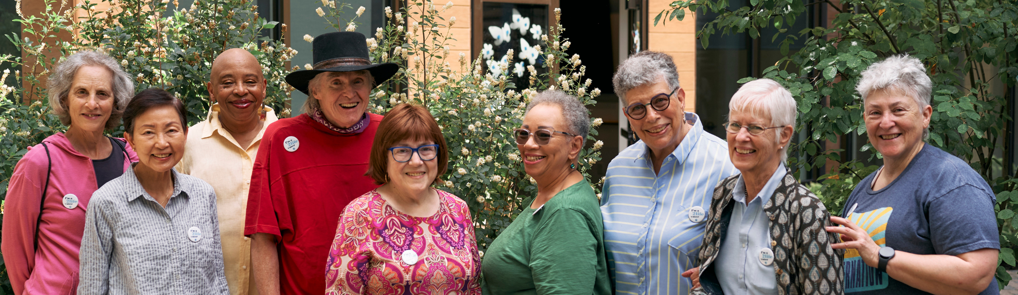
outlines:
[[[484,294],[611,294],[598,196],[576,170],[589,128],[583,103],[563,92],[527,106],[513,135],[538,195],[488,248]]]

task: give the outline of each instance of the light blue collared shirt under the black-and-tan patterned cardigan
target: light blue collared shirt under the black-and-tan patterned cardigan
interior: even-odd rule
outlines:
[[[785,164],[780,164],[764,189],[748,204],[745,180],[740,175],[735,183],[732,189],[732,219],[718,258],[711,266],[717,268],[714,272],[725,294],[778,294],[774,259],[765,266],[760,261],[760,251],[771,249],[771,220],[764,213],[764,204],[774,195],[784,177]]]

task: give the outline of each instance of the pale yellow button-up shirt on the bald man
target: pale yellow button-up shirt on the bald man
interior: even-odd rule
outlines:
[[[276,113],[265,107],[262,130],[244,150],[219,122],[219,104],[212,106],[209,118],[187,130],[184,157],[177,172],[205,180],[216,190],[220,239],[230,295],[257,295],[251,282],[250,239],[244,237],[244,214],[247,212],[247,189],[259,143]],[[323,271],[324,272],[324,271]]]

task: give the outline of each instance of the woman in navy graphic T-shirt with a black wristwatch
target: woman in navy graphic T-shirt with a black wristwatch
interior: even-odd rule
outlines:
[[[994,191],[958,157],[926,144],[932,83],[922,63],[892,56],[862,72],[869,142],[884,166],[855,187],[829,227],[845,242],[850,294],[998,294]]]

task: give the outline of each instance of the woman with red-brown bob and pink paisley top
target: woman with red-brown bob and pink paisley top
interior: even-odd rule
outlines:
[[[367,175],[382,186],[343,211],[326,294],[480,294],[470,211],[432,188],[449,160],[435,118],[398,105],[376,134]]]

